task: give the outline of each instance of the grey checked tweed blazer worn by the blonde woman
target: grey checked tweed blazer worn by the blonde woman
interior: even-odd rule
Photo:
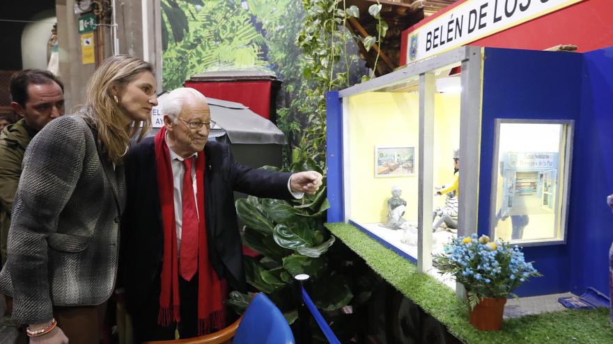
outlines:
[[[26,149],[0,272],[14,322],[49,321],[53,306],[100,304],[111,295],[124,177],[123,166],[99,151],[79,115],[49,122]]]

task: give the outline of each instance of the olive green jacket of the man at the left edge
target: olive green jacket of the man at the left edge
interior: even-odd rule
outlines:
[[[6,241],[10,227],[10,212],[17,184],[22,175],[24,152],[36,135],[24,120],[7,126],[0,133],[0,253],[6,262]]]

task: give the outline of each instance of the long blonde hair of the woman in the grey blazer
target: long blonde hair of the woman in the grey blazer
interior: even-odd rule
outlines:
[[[130,139],[136,136],[139,129],[140,141],[151,127],[150,117],[144,121],[129,120],[111,93],[113,86],[123,87],[141,72],[153,74],[153,66],[140,58],[116,55],[104,60],[87,83],[86,116],[93,121],[98,130],[98,138],[114,163],[121,163]]]

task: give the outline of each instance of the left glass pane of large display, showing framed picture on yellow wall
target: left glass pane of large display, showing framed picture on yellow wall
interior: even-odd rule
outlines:
[[[417,247],[401,243],[405,229],[417,228],[419,95],[412,83],[346,98],[346,206],[352,222],[417,256]]]

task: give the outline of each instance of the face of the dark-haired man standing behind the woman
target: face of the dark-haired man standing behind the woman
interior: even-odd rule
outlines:
[[[57,83],[30,84],[27,90],[26,104],[13,101],[10,105],[33,129],[40,130],[51,120],[64,114],[64,94]]]

